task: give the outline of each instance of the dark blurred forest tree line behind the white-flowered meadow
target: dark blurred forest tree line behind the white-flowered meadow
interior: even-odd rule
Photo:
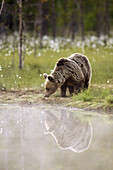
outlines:
[[[0,15],[0,31],[19,29],[18,0],[7,0]],[[43,35],[71,36],[87,32],[109,35],[113,26],[112,0],[22,0],[27,31]],[[2,6],[2,3],[1,3]],[[24,27],[24,26],[23,26]],[[40,44],[41,46],[41,44]]]

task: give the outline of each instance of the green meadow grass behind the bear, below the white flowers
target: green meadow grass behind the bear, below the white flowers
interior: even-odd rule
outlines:
[[[31,50],[32,51],[32,50]],[[68,57],[72,53],[82,52],[82,49],[62,49],[60,52],[42,49],[34,54],[26,54],[24,67],[18,68],[18,54],[15,54],[15,66],[12,67],[12,52],[2,50],[0,54],[0,86],[6,89],[18,88],[42,88],[44,83],[43,73],[50,74],[56,61],[61,57]],[[38,56],[38,54],[41,56]],[[92,84],[113,83],[113,48],[100,47],[98,49],[85,48],[84,53],[88,56],[92,66]],[[20,78],[21,77],[21,78]],[[85,100],[85,99],[84,99]],[[90,100],[90,99],[86,99]]]

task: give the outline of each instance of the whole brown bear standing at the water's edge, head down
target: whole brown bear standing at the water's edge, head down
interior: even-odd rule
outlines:
[[[60,87],[61,97],[66,97],[66,89],[70,94],[77,94],[87,89],[91,81],[91,65],[86,56],[75,53],[68,58],[61,58],[50,75],[43,74],[45,80],[45,97],[55,93]]]

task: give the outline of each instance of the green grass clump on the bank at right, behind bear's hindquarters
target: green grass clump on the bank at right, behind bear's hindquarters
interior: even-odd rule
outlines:
[[[113,112],[113,90],[108,86],[92,85],[88,90],[73,95],[72,98],[73,101],[67,106]]]

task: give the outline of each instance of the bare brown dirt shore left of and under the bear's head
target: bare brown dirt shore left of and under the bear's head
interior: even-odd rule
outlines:
[[[60,104],[66,105],[72,102],[70,97],[62,98],[59,96],[51,96],[49,98],[44,97],[44,91],[38,90],[17,90],[17,91],[0,91],[0,103],[7,104],[20,104],[20,105],[32,105],[32,104]]]

